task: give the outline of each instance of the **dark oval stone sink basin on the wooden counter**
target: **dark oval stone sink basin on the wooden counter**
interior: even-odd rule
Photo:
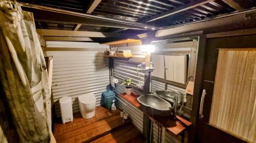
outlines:
[[[166,117],[172,113],[172,105],[154,94],[142,95],[137,100],[140,108],[150,115]]]

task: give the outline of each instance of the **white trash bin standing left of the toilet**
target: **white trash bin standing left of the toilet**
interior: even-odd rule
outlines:
[[[73,110],[71,97],[62,97],[59,99],[60,114],[62,123],[73,121]]]

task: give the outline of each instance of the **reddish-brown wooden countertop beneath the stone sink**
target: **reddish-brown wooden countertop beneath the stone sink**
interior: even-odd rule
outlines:
[[[126,101],[130,102],[132,105],[140,109],[140,104],[137,101],[137,98],[139,95],[136,93],[133,93],[132,95],[126,95],[120,94],[122,98],[124,98]],[[141,109],[140,109],[141,110]],[[142,110],[143,111],[143,110]],[[144,111],[143,111],[144,112]],[[152,121],[158,123],[159,125],[163,126],[166,128],[167,131],[178,135],[182,131],[184,131],[188,126],[190,126],[192,123],[183,119],[180,116],[176,116],[177,119],[174,119],[172,116],[169,117],[159,117],[159,116],[153,116],[153,115],[148,115],[147,113],[144,112],[148,118],[150,118]]]

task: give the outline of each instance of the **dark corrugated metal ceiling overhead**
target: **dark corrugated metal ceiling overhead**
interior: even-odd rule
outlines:
[[[254,0],[20,0],[19,2],[157,27],[171,27],[256,6]],[[94,8],[92,8],[94,6]],[[89,9],[92,8],[90,11]],[[37,28],[94,32],[123,32],[126,29],[36,20]],[[131,30],[130,30],[131,31]]]

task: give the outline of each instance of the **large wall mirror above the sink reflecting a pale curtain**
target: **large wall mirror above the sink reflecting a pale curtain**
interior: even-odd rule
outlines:
[[[199,37],[152,41],[155,52],[151,61],[155,70],[151,73],[151,92],[177,90],[185,93],[188,81],[195,80]],[[186,94],[184,116],[190,117],[193,95]]]

